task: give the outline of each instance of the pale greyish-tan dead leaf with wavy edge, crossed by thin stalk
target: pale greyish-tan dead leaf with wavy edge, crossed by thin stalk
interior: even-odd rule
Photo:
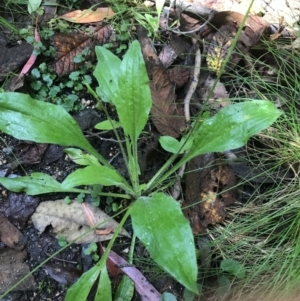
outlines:
[[[116,229],[118,223],[111,219],[105,212],[99,208],[86,204],[95,217],[95,223],[101,229]],[[68,242],[75,240],[90,229],[82,205],[78,202],[72,202],[70,205],[64,203],[64,200],[42,202],[32,215],[31,220],[40,232],[52,225],[56,237],[64,236]],[[126,230],[122,230],[121,235],[130,237]],[[77,244],[91,243],[109,240],[113,233],[107,235],[97,235],[91,231],[78,240]]]

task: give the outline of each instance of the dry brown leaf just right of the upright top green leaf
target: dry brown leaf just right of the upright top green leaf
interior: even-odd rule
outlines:
[[[163,67],[154,68],[152,78],[150,81],[153,100],[151,119],[161,134],[179,137],[186,125],[182,108],[175,103],[175,85]]]

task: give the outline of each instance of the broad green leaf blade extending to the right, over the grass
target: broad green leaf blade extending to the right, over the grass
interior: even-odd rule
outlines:
[[[230,105],[195,128],[193,146],[184,161],[209,152],[236,149],[270,126],[282,112],[266,100]]]

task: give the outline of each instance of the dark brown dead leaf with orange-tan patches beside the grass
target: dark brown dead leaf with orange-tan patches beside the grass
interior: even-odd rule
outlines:
[[[236,178],[230,166],[216,164],[213,153],[198,156],[188,163],[184,214],[193,233],[205,232],[208,225],[226,217],[225,207],[238,197]]]

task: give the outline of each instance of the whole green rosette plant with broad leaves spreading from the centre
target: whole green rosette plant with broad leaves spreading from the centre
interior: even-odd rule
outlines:
[[[39,172],[13,179],[1,177],[0,183],[8,190],[28,195],[82,192],[78,188],[81,185],[117,186],[123,193],[113,193],[114,197],[132,200],[104,255],[69,288],[65,300],[85,300],[99,275],[95,300],[101,294],[110,295],[106,259],[129,215],[135,235],[153,260],[188,290],[197,293],[192,230],[179,203],[160,190],[161,184],[166,184],[181,165],[198,155],[241,147],[249,137],[270,126],[281,112],[270,101],[248,100],[228,106],[204,121],[197,119],[185,143],[172,138],[161,139],[163,146],[171,149],[173,154],[148,183],[141,184],[137,142],[148,121],[152,99],[140,44],[134,41],[122,61],[104,47],[97,46],[96,54],[98,64],[94,76],[99,86],[96,92],[89,90],[99,98],[98,106],[103,102],[114,106],[119,119],[115,121],[108,117],[108,121],[98,128],[121,127],[125,143],[123,148],[120,142],[120,148],[129,179],[93,148],[76,121],[62,107],[32,99],[26,94],[7,92],[0,94],[0,130],[20,140],[67,146],[65,151],[81,168],[61,183]],[[120,141],[118,132],[114,132]],[[180,155],[182,148],[184,155]],[[179,159],[174,161],[175,158]]]

